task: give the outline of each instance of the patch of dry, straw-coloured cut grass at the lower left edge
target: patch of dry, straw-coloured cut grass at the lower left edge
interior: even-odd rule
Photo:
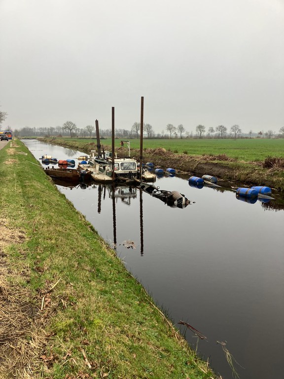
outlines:
[[[18,273],[7,263],[5,247],[21,243],[25,233],[0,220],[0,378],[34,378],[45,345],[39,309],[27,299],[30,294],[17,284]],[[26,273],[25,273],[26,274]]]

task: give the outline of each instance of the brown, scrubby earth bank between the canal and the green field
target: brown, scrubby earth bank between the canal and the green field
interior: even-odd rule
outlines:
[[[60,146],[70,147],[90,154],[96,150],[95,142],[68,141],[56,138],[38,138],[39,140]],[[111,150],[105,146],[106,150]],[[118,157],[126,156],[125,147],[115,149]],[[131,150],[131,156],[139,160],[140,151]],[[267,157],[260,162],[244,162],[228,157],[226,154],[191,156],[169,152],[164,148],[144,149],[143,161],[152,162],[157,167],[174,168],[178,173],[202,176],[213,175],[228,185],[268,186],[284,191],[284,158]]]

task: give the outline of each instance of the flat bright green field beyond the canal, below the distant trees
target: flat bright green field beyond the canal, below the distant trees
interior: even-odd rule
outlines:
[[[58,140],[76,141],[80,146],[95,142],[95,139],[69,139]],[[111,146],[111,139],[102,139],[101,144]],[[120,146],[120,140],[115,140],[115,147]],[[140,140],[130,140],[131,149],[140,148]],[[226,154],[240,161],[261,161],[268,156],[284,157],[284,139],[144,139],[143,148],[165,148],[177,153],[188,155],[219,155]]]

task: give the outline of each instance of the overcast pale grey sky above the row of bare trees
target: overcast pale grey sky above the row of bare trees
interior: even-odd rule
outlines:
[[[284,0],[0,0],[2,128],[284,126]]]

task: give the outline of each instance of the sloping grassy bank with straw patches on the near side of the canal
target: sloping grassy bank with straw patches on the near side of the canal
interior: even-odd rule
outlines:
[[[210,378],[18,140],[0,151],[0,378]]]

